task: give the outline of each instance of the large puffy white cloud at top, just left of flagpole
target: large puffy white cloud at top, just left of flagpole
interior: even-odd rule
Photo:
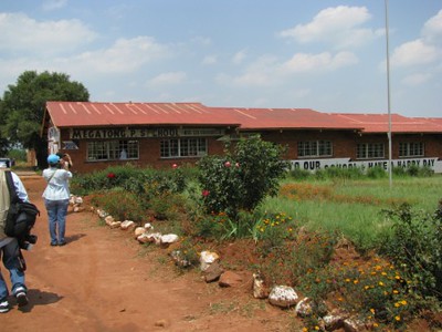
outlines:
[[[327,8],[309,23],[297,24],[280,32],[280,35],[293,38],[301,43],[327,42],[337,49],[357,46],[379,35],[378,31],[358,28],[370,19],[371,14],[366,7]]]

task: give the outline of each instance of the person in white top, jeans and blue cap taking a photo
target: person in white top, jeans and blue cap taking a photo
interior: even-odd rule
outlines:
[[[71,191],[69,179],[72,173],[62,167],[57,155],[49,155],[49,167],[43,170],[48,186],[43,191],[44,206],[48,211],[51,246],[64,246],[66,231],[66,215]]]

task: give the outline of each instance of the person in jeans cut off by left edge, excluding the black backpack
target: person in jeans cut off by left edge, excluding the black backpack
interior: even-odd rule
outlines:
[[[24,269],[22,267],[19,241],[17,238],[4,234],[6,220],[11,205],[6,172],[0,169],[0,257],[3,266],[9,270],[11,292],[15,297],[18,305],[24,307],[29,302],[27,297],[28,288],[24,283]],[[23,183],[15,173],[11,172],[11,175],[17,195],[22,201],[29,201]],[[0,313],[8,312],[10,309],[8,297],[8,286],[0,270]]]

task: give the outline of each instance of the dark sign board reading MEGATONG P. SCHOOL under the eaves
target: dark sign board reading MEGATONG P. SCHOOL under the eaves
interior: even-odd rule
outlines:
[[[179,137],[179,136],[220,136],[224,134],[221,128],[72,128],[71,139],[123,139],[147,137]]]

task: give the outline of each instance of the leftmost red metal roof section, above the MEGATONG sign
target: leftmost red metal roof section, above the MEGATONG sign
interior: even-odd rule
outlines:
[[[57,127],[239,125],[200,103],[48,102],[46,110]]]

